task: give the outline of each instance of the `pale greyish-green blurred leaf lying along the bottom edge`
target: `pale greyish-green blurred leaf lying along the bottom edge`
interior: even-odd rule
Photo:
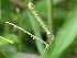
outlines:
[[[41,58],[35,54],[25,54],[25,53],[9,53],[7,51],[7,58]]]

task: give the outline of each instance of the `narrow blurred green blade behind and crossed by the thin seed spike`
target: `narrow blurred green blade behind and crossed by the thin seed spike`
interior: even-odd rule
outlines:
[[[42,39],[40,27],[37,25],[37,22],[35,21],[35,18],[33,18],[33,15],[31,15],[30,12],[28,12],[28,13],[29,13],[30,22],[31,22],[31,25],[32,25],[35,36],[37,36]],[[36,46],[37,46],[40,54],[43,55],[43,51],[44,51],[43,44],[40,40],[36,40]]]

